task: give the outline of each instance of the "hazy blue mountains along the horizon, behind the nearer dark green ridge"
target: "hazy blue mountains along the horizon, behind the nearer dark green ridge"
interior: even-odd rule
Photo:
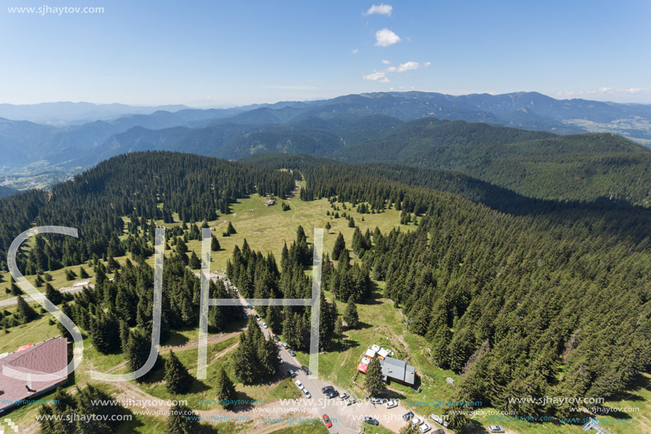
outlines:
[[[172,109],[177,108],[181,107]],[[126,114],[117,119],[69,124],[62,128],[5,119],[0,125],[0,151],[6,156],[5,163],[13,166],[46,161],[49,166],[87,167],[85,165],[88,161],[97,163],[112,156],[102,153],[102,143],[112,135],[124,133],[135,126],[146,129],[185,126],[195,129],[230,123],[259,127],[300,121],[308,117],[333,119],[351,114],[379,114],[402,121],[433,116],[438,119],[481,122],[556,134],[610,131],[639,141],[651,141],[651,107],[643,104],[559,100],[537,92],[461,96],[431,92],[377,92],[232,109],[180,109],[177,112],[158,110],[151,114]],[[24,142],[23,146],[16,148],[15,144],[21,141]],[[132,144],[123,144],[124,149],[133,147]],[[211,143],[202,143],[202,146],[210,147]],[[199,153],[207,153],[198,151],[200,146],[195,148]],[[155,149],[165,150],[160,146]],[[278,148],[270,150],[278,151]],[[233,155],[212,155],[239,158]]]

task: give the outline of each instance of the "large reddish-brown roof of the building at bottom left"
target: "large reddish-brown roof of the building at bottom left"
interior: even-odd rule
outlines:
[[[67,340],[58,337],[2,357],[0,359],[0,412],[13,407],[21,400],[31,399],[39,392],[47,391],[67,381],[67,376],[54,376],[46,381],[15,379],[4,374],[5,367],[35,375],[55,374],[67,367],[67,348]]]

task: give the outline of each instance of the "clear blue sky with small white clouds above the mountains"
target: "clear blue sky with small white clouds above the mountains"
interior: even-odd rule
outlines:
[[[52,1],[3,1],[0,102],[223,107],[416,89],[651,103],[645,0]],[[8,10],[44,4],[104,13]]]

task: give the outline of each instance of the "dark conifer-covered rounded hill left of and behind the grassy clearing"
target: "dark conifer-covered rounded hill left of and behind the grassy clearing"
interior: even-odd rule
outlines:
[[[0,264],[13,239],[32,224],[79,229],[79,239],[53,236],[53,244],[38,254],[41,267],[56,269],[106,253],[124,230],[122,216],[168,221],[177,212],[186,221],[216,219],[251,192],[285,196],[293,189],[291,175],[277,170],[183,153],[124,154],[51,192],[30,190],[1,199]],[[25,264],[21,258],[18,263]]]

